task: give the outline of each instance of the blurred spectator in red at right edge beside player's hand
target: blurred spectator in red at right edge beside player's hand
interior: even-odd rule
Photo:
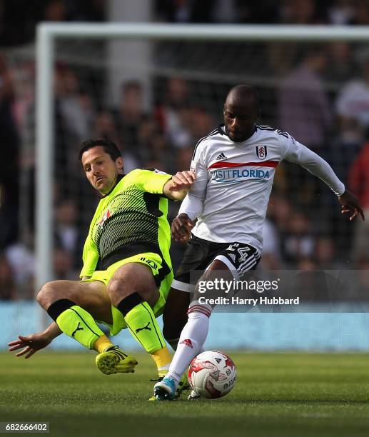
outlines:
[[[366,220],[355,220],[353,259],[358,261],[369,253],[369,142],[363,146],[348,174],[348,186],[358,196]]]

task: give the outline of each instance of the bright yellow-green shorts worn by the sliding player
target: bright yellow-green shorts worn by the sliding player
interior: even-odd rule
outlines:
[[[161,259],[161,256],[158,255],[158,253],[153,253],[153,252],[138,253],[138,255],[133,255],[130,256],[129,258],[124,258],[121,259],[121,261],[117,261],[116,263],[113,263],[106,270],[96,270],[93,272],[91,278],[83,279],[82,281],[84,282],[101,281],[107,286],[108,282],[111,280],[116,270],[127,263],[141,263],[144,264],[145,266],[150,267],[151,271],[153,272],[154,278],[159,276],[159,270],[163,266],[163,260]],[[171,288],[172,281],[173,281],[173,271],[171,270],[170,273],[168,273],[166,276],[163,277],[160,286],[158,288],[159,298],[156,301],[155,305],[153,306],[153,313],[155,314],[155,317],[161,316],[161,314],[163,313],[164,306],[166,304],[166,298],[168,296],[169,289]],[[111,306],[111,313],[113,316],[112,325],[106,323],[105,321],[98,321],[98,322],[108,326],[110,335],[115,336],[122,329],[126,329],[127,325],[126,322],[124,321],[123,314],[121,313],[121,311],[115,308],[115,306]]]

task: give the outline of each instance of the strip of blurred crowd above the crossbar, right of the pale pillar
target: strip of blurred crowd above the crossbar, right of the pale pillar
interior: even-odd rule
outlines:
[[[156,0],[161,21],[228,24],[369,23],[365,0]]]

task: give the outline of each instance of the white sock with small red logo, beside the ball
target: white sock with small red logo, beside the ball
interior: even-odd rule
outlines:
[[[176,379],[177,382],[187,370],[192,359],[200,353],[206,341],[211,309],[208,305],[200,306],[197,301],[193,301],[188,308],[188,321],[179,337],[177,350],[167,375]]]

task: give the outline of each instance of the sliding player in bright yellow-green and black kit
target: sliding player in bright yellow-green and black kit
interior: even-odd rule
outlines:
[[[111,343],[96,324],[100,321],[111,336],[128,328],[163,376],[171,356],[156,317],[173,279],[168,199],[182,200],[194,174],[140,169],[123,174],[121,152],[107,139],[85,141],[79,160],[101,196],[84,245],[81,281],[46,283],[37,301],[54,323],[43,333],[19,336],[9,350],[24,348],[17,356],[29,358],[64,332],[98,352],[101,372],[133,372],[136,359]]]

